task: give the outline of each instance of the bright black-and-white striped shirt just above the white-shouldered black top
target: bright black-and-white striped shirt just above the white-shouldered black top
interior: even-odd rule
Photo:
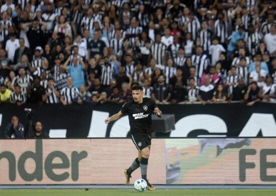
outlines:
[[[196,76],[201,78],[203,71],[210,64],[209,58],[206,54],[203,55],[192,55],[192,64],[196,67]]]

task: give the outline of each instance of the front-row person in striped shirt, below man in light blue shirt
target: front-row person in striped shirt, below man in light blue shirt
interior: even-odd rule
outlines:
[[[60,102],[63,106],[71,105],[79,95],[79,89],[73,86],[73,78],[67,77],[67,86],[60,92]]]

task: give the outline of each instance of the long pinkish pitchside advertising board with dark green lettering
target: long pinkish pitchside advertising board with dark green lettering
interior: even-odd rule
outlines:
[[[1,139],[1,184],[123,184],[130,139]],[[140,168],[130,182],[141,177]],[[153,139],[153,184],[275,184],[276,138]]]

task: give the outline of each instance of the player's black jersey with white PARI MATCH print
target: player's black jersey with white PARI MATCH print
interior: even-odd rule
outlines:
[[[143,103],[135,103],[134,100],[125,103],[121,108],[121,113],[128,114],[130,132],[152,134],[152,113],[157,108],[157,104],[148,97],[143,97]]]

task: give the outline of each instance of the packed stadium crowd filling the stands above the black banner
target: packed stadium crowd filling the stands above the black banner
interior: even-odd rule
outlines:
[[[275,1],[0,1],[1,104],[276,101]]]

